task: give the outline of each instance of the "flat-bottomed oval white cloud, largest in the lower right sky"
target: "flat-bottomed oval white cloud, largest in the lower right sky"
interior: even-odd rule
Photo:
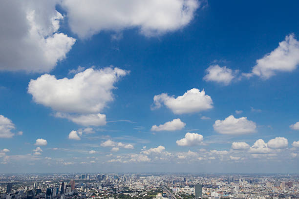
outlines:
[[[256,132],[256,123],[246,117],[235,118],[233,115],[224,120],[217,119],[213,124],[214,130],[221,134],[243,135]]]

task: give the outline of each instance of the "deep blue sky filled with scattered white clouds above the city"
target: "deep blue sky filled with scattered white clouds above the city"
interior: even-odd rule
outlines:
[[[2,1],[0,172],[298,173],[298,7]]]

